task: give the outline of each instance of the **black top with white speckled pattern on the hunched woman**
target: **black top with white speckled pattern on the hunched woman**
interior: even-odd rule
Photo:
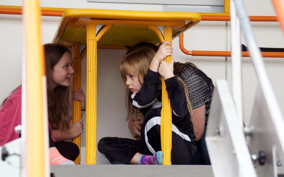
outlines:
[[[212,80],[200,69],[190,66],[178,75],[188,88],[192,109],[205,104],[205,124],[207,124],[214,85]]]

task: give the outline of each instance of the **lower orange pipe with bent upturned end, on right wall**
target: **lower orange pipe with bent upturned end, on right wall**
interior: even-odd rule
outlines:
[[[184,48],[184,33],[179,35],[179,48],[186,55],[192,56],[231,56],[231,51],[203,51],[193,50],[189,51]],[[261,52],[262,57],[267,58],[284,58],[284,52]],[[250,57],[249,52],[242,52],[243,57]]]

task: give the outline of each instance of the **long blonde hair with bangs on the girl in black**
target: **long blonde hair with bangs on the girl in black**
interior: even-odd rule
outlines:
[[[151,60],[154,58],[154,55],[156,54],[156,51],[149,47],[148,45],[134,47],[134,50],[128,51],[127,54],[123,57],[123,60],[120,63],[120,74],[121,78],[126,83],[126,77],[125,75],[130,74],[129,72],[133,72],[137,75],[138,80],[140,84],[142,84],[142,81],[140,80],[140,76],[143,76],[147,73],[147,70],[150,66]],[[188,89],[182,79],[178,77],[178,79],[182,82],[186,101],[188,103],[188,110],[190,112],[190,119],[193,120],[193,111],[192,111],[192,104],[189,101],[188,97]],[[161,80],[161,77],[160,77]],[[137,109],[134,108],[132,103],[130,102],[128,95],[129,95],[129,89],[125,85],[126,89],[126,97],[125,97],[125,104],[127,108],[127,116],[126,121],[130,120],[131,117],[135,117],[135,122],[138,121],[138,115],[137,115]],[[143,120],[143,117],[141,117]]]

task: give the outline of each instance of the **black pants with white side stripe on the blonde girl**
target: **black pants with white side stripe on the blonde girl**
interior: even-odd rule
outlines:
[[[161,108],[151,109],[144,117],[140,141],[104,137],[98,143],[98,150],[111,164],[127,164],[137,152],[153,155],[155,152],[161,151],[160,121]],[[174,125],[172,129],[172,164],[188,164],[195,151],[195,143],[179,127]]]

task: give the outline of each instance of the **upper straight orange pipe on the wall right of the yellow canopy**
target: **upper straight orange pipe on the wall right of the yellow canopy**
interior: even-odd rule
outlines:
[[[277,22],[276,16],[249,16],[251,22]],[[202,15],[201,21],[230,21],[230,16]]]

